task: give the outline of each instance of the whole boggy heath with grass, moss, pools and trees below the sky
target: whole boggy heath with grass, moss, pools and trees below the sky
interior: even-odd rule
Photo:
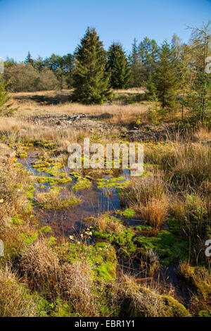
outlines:
[[[6,61],[0,316],[211,316],[209,40],[127,56],[88,28],[73,55]],[[68,169],[85,137],[142,142],[143,174]]]

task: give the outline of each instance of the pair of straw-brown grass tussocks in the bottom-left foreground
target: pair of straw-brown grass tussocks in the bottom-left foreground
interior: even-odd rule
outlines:
[[[95,315],[93,277],[87,261],[60,264],[46,240],[27,246],[20,256],[20,272],[30,289],[47,298],[60,297],[77,313]]]

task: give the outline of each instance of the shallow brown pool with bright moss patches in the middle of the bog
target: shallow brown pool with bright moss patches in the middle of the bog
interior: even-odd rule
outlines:
[[[36,161],[38,154],[28,153],[27,158],[19,158],[18,162],[22,163],[27,170],[34,173],[34,176],[48,176],[48,173],[43,173],[37,171],[37,168],[32,168],[34,161]],[[68,174],[71,171],[68,167],[61,169],[61,171],[66,171]],[[129,180],[129,170],[123,170],[120,176],[124,177],[124,180]],[[72,177],[72,181],[60,187],[66,187],[68,191],[71,191],[72,187],[76,184],[77,179]],[[103,176],[103,178],[108,179],[108,176]],[[121,180],[120,182],[123,182]],[[44,188],[41,188],[43,187]],[[49,183],[36,183],[34,196],[39,193],[48,192]],[[117,189],[115,187],[103,187],[98,188],[95,181],[91,183],[89,189],[78,189],[75,190],[75,195],[81,199],[79,204],[75,206],[69,206],[68,208],[63,208],[61,210],[48,210],[44,208],[39,208],[34,206],[34,215],[37,216],[40,225],[51,226],[56,237],[69,237],[69,235],[79,234],[82,228],[87,227],[87,223],[83,222],[84,218],[98,217],[103,213],[116,211],[120,209],[120,198],[117,194]],[[63,192],[61,191],[61,194]],[[63,198],[65,195],[63,194]],[[132,220],[130,220],[132,223]]]

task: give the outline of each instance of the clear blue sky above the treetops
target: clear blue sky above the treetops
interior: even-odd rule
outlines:
[[[211,0],[0,0],[0,57],[72,53],[87,26],[106,49],[115,40],[130,51],[134,37],[170,42],[174,33],[187,42],[186,24],[200,26],[210,14]]]

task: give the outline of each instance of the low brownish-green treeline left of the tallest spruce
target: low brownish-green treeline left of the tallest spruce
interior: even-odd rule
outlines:
[[[30,51],[23,63],[13,58],[4,62],[4,80],[11,92],[34,92],[48,89],[72,88],[74,56],[52,54],[49,58],[33,59]]]

